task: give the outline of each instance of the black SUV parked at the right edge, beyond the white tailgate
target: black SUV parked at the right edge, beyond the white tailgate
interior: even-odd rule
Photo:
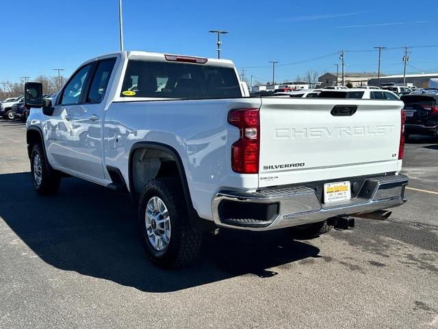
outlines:
[[[438,136],[438,94],[403,95],[400,99],[406,114],[405,138],[411,134]]]

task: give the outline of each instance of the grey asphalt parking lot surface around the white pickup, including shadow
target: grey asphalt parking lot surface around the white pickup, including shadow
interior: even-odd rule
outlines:
[[[0,121],[0,328],[438,328],[438,145],[405,149],[387,221],[295,241],[224,232],[162,271],[127,195],[76,178],[34,193],[25,126]]]

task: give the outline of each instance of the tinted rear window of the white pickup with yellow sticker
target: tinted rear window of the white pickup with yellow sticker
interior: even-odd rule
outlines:
[[[232,67],[129,60],[120,97],[207,99],[242,93]]]

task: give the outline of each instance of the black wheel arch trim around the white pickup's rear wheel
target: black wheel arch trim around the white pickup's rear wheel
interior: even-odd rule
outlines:
[[[190,189],[188,186],[187,175],[185,175],[183,161],[181,160],[181,156],[179,156],[178,151],[171,147],[170,145],[158,143],[158,142],[137,142],[134,143],[129,151],[129,164],[128,164],[128,180],[129,180],[129,191],[134,201],[137,202],[138,195],[136,195],[136,191],[133,186],[132,180],[132,158],[133,153],[137,149],[156,149],[158,151],[164,151],[170,154],[177,164],[177,169],[179,173],[179,178],[181,179],[181,186],[183,186],[183,193],[185,198],[185,204],[187,205],[187,209],[189,212],[190,224],[192,229],[196,231],[210,231],[216,228],[216,225],[213,221],[207,221],[206,219],[202,219],[199,217],[198,212],[193,206],[192,197],[190,195]]]

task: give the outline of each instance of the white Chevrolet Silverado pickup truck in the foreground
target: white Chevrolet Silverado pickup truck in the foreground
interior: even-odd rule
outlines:
[[[25,95],[36,192],[73,175],[131,193],[162,267],[217,228],[315,236],[405,202],[397,99],[247,97],[229,60],[141,51],[88,60],[53,99],[32,82]]]

